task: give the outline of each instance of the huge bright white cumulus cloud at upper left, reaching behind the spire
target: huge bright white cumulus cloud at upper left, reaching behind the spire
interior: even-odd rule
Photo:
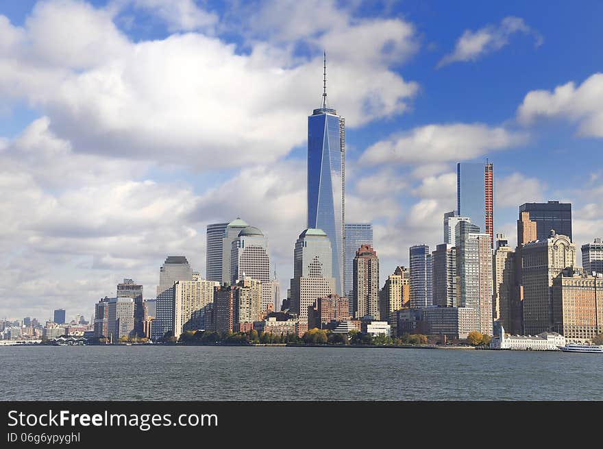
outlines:
[[[345,110],[347,126],[404,112],[417,84],[389,64],[411,51],[413,28],[349,18],[338,26],[317,45],[332,45],[329,99]],[[367,34],[377,38],[369,44]],[[44,111],[52,132],[77,152],[197,171],[271,162],[304,143],[306,114],[319,105],[319,51],[299,59],[293,49],[257,42],[240,53],[199,32],[134,43],[109,9],[73,0],[36,5],[23,27],[3,19],[0,37],[0,93]],[[343,38],[347,45],[337,47]]]

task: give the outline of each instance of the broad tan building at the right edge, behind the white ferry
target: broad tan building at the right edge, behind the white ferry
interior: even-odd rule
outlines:
[[[603,334],[603,274],[564,269],[552,284],[552,329],[569,343],[591,343]]]

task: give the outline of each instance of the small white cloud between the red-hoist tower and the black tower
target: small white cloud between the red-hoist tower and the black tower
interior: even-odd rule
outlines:
[[[546,185],[537,178],[528,178],[521,173],[512,173],[504,178],[495,178],[495,207],[515,207],[545,199]]]

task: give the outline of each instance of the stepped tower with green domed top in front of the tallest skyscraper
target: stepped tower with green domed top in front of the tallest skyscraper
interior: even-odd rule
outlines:
[[[335,293],[331,257],[331,242],[323,230],[306,229],[299,234],[293,251],[290,307],[299,317],[300,335],[308,330],[308,307]]]

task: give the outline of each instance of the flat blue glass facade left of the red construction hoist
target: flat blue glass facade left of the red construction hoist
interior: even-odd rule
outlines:
[[[456,214],[486,230],[486,189],[484,164],[459,162],[456,165]]]

